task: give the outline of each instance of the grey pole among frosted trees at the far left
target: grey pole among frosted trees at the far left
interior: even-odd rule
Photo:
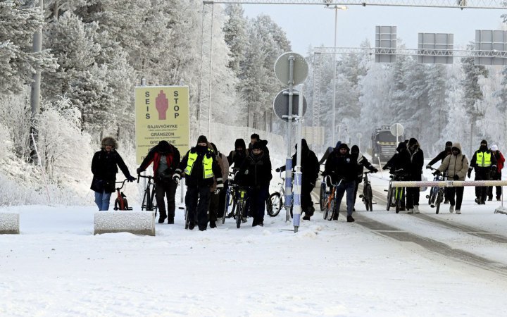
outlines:
[[[41,10],[42,16],[44,16],[44,0],[39,0],[39,7]],[[42,26],[37,30],[37,32],[33,36],[33,46],[32,50],[34,53],[39,53],[42,51]],[[33,82],[30,89],[30,108],[32,111],[32,116],[30,118],[30,134],[32,138],[30,139],[30,156],[32,158],[32,162],[36,162],[38,159],[37,151],[35,150],[35,137],[37,136],[37,129],[35,128],[35,120],[39,115],[40,109],[40,85],[41,85],[41,72],[37,70],[37,72],[33,75]]]

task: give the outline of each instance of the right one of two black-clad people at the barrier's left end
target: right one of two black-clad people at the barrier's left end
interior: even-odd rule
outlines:
[[[406,161],[405,171],[408,180],[420,181],[423,175],[424,154],[420,149],[419,142],[415,138],[408,140],[408,161]],[[406,189],[406,207],[408,213],[419,213],[419,187],[407,187]]]

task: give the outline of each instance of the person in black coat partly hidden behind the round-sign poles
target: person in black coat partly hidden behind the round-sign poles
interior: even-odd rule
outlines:
[[[297,144],[296,144],[297,150]],[[292,170],[295,170],[297,165],[297,153],[292,156]],[[280,166],[276,171],[284,171],[285,166]],[[301,210],[304,211],[304,220],[310,220],[313,216],[315,208],[311,200],[311,192],[315,187],[319,173],[319,163],[315,153],[308,147],[306,139],[301,139]]]

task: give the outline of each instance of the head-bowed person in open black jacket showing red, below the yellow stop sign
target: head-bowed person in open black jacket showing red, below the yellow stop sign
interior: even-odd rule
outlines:
[[[180,151],[176,147],[163,140],[148,152],[139,168],[137,174],[140,174],[153,163],[155,197],[160,216],[158,223],[163,223],[165,218],[169,224],[174,223],[176,209],[176,189],[177,184],[173,182],[173,175],[180,164]],[[167,211],[165,210],[164,196],[167,197]]]

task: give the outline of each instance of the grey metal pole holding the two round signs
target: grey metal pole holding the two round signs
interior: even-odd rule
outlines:
[[[294,95],[294,55],[289,56],[289,111],[287,118],[287,159],[285,159],[285,221],[290,220],[292,201],[292,97]]]

